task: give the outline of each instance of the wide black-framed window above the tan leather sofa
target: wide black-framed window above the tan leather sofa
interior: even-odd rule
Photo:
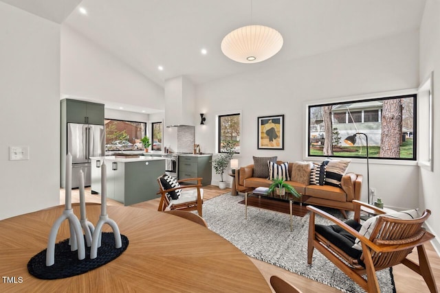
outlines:
[[[414,94],[311,105],[308,155],[366,157],[366,135],[370,158],[415,160],[416,104]]]

